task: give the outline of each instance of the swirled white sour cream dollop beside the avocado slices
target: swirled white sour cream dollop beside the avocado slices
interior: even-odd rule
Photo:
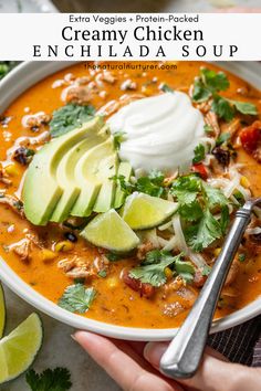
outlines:
[[[135,170],[186,170],[205,136],[203,116],[189,96],[165,93],[132,102],[109,119],[113,134],[124,133],[119,157]]]

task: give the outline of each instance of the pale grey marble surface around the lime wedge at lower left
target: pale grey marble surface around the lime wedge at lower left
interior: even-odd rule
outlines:
[[[9,332],[35,309],[8,288],[4,288],[4,292],[8,307],[6,332]],[[71,327],[40,315],[44,325],[44,341],[33,364],[36,371],[66,367],[72,373],[72,391],[119,391],[113,380],[71,338]],[[4,387],[0,385],[0,391],[29,391],[29,387],[21,376]]]

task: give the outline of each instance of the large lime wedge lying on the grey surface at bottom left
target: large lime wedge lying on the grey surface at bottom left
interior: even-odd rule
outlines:
[[[32,364],[43,339],[42,323],[30,315],[0,341],[0,384],[15,379]]]

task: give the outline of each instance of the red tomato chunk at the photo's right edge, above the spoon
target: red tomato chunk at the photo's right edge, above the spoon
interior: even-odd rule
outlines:
[[[243,128],[240,133],[243,149],[255,157],[261,147],[261,121],[255,120],[252,125]]]

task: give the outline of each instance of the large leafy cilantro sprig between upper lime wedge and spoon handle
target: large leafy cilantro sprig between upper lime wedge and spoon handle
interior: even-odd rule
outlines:
[[[194,251],[202,251],[226,233],[229,200],[221,190],[192,173],[176,179],[171,193],[179,203],[185,239]],[[216,211],[220,212],[219,219],[215,216]]]

